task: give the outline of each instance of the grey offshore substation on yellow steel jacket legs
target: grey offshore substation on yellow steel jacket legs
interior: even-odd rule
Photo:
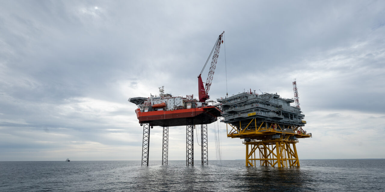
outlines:
[[[277,93],[239,93],[220,102],[227,136],[244,139],[246,166],[300,166],[295,144],[298,138],[311,137],[302,129],[305,115],[298,101],[296,80],[294,99],[281,98]],[[296,106],[290,106],[290,103]],[[257,153],[259,152],[259,156]]]

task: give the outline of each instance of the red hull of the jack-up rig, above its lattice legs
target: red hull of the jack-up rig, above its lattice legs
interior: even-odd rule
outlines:
[[[184,126],[187,119],[192,119],[194,125],[210,124],[221,116],[221,111],[213,106],[204,108],[178,109],[174,111],[135,110],[139,123],[150,123],[151,126]]]

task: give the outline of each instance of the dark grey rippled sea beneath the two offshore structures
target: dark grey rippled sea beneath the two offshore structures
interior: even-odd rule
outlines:
[[[301,167],[246,167],[244,160],[3,161],[1,192],[385,191],[385,159],[302,159]]]

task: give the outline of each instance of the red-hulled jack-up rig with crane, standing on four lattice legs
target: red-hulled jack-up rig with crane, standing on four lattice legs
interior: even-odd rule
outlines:
[[[214,47],[198,76],[199,100],[194,99],[193,95],[174,97],[164,93],[163,86],[159,88],[159,96],[129,98],[129,102],[138,106],[135,113],[139,123],[143,126],[142,166],[148,166],[150,127],[163,127],[162,165],[167,165],[169,127],[184,125],[186,126],[186,165],[194,165],[194,129],[196,125],[201,125],[201,163],[202,165],[208,164],[207,124],[217,121],[218,117],[221,116],[221,111],[216,106],[208,105],[206,100],[210,98],[208,93],[213,81],[219,49],[223,43],[223,33],[215,41]],[[205,86],[203,86],[201,75],[211,55],[213,57],[208,77]]]

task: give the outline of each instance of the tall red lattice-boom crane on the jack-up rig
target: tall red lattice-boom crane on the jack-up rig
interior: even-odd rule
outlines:
[[[223,33],[224,33],[224,31],[223,31]],[[205,102],[207,99],[210,98],[210,96],[208,94],[209,94],[211,82],[213,81],[213,77],[214,77],[214,70],[215,70],[217,60],[218,60],[219,49],[221,48],[221,43],[223,43],[223,40],[222,40],[223,33],[221,33],[221,35],[219,35],[218,39],[215,41],[215,45],[213,47],[213,50],[211,50],[211,53],[210,53],[209,57],[207,58],[207,61],[204,64],[201,73],[198,76],[199,102]],[[207,76],[206,84],[205,84],[205,86],[203,86],[203,81],[202,81],[201,75],[203,73],[204,68],[207,65],[207,62],[210,59],[210,56],[213,54],[213,52],[214,52],[214,55],[213,55],[213,59],[211,60],[209,74]]]

